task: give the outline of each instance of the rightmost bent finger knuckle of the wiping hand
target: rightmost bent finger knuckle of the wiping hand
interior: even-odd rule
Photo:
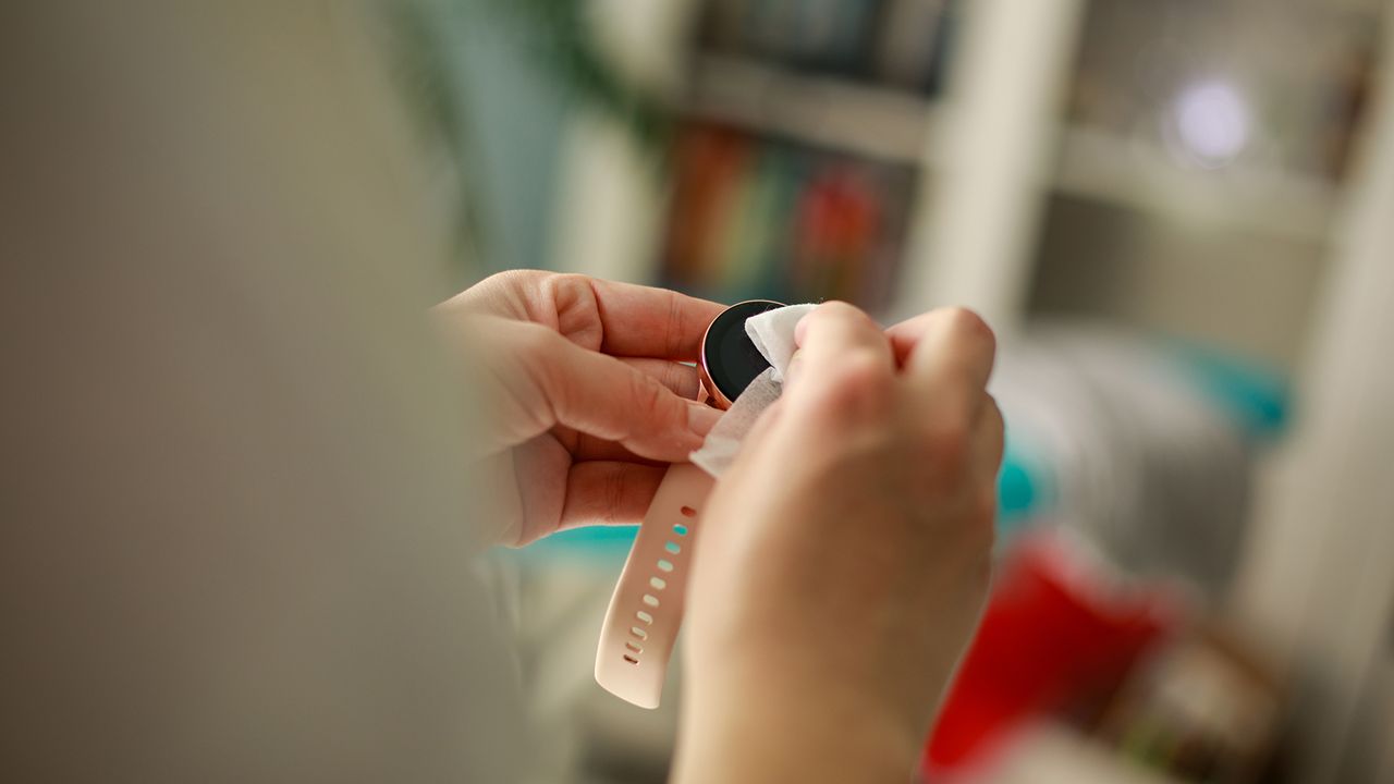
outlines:
[[[934,310],[887,331],[903,372],[976,416],[993,372],[997,338],[973,311]]]

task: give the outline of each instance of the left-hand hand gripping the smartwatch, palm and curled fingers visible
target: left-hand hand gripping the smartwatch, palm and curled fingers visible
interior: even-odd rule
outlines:
[[[696,403],[694,361],[722,306],[583,275],[493,275],[436,307],[492,400],[475,456],[505,488],[498,540],[637,523],[668,462],[719,412]]]

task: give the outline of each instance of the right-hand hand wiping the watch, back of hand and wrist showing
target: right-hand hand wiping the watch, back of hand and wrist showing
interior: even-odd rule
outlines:
[[[1002,419],[963,310],[828,303],[707,502],[680,781],[905,781],[988,587]]]

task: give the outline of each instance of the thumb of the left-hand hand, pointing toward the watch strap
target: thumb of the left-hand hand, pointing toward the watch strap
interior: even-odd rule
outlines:
[[[583,349],[542,326],[519,325],[509,340],[520,343],[505,361],[521,365],[521,389],[542,430],[562,424],[613,441],[654,460],[680,460],[701,446],[721,413],[675,395],[654,377],[619,359]]]

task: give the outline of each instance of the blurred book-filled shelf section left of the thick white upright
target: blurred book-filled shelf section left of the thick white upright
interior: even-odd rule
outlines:
[[[944,163],[953,18],[921,0],[703,4],[658,280],[726,300],[902,304]],[[744,218],[711,215],[722,199]]]

